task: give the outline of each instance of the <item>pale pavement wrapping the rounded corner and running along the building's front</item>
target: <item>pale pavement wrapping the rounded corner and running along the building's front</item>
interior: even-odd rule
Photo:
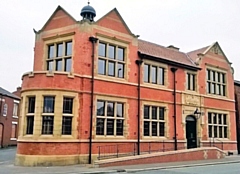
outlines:
[[[134,173],[141,171],[219,165],[227,163],[240,163],[240,155],[226,156],[219,160],[182,161],[172,163],[141,164],[129,166],[115,166],[106,168],[93,168],[92,165],[72,165],[72,166],[52,166],[52,167],[21,167],[14,166],[14,156],[16,148],[6,148],[0,150],[0,173],[1,174],[96,174],[96,173]]]

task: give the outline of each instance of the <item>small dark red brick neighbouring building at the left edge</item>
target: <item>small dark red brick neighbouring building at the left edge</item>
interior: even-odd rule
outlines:
[[[0,148],[17,145],[19,103],[17,95],[0,87]]]

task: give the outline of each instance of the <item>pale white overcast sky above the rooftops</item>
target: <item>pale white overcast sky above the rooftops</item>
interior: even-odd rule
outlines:
[[[218,41],[240,80],[240,0],[90,0],[99,19],[117,8],[141,39],[189,52]],[[87,0],[0,0],[0,86],[14,91],[33,68],[33,28],[58,5],[76,20]]]

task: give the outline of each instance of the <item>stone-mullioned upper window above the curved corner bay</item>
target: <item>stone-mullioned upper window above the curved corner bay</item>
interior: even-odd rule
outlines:
[[[72,41],[48,45],[47,70],[70,72],[72,67]]]

